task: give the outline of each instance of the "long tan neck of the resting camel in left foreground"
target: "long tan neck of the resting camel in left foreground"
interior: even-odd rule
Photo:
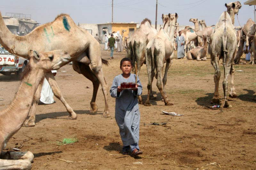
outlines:
[[[9,140],[25,122],[33,102],[36,89],[44,77],[44,71],[31,68],[28,76],[21,80],[20,87],[14,100],[4,110],[0,111],[0,133]]]

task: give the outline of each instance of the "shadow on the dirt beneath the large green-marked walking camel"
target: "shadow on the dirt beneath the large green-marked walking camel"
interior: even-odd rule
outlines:
[[[74,112],[77,115],[82,115],[82,114],[87,114],[87,115],[102,115],[103,113],[90,113],[89,110],[74,110]],[[45,113],[45,114],[38,114],[36,115],[36,121],[40,122],[41,120],[44,120],[46,118],[50,118],[50,119],[66,119],[67,117],[63,118],[62,116],[69,116],[69,113],[67,111],[65,112],[52,112],[52,113]],[[58,118],[61,117],[61,118]]]

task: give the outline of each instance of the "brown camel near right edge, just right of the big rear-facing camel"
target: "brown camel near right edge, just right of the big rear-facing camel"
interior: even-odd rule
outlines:
[[[240,33],[240,41],[238,45],[238,51],[236,52],[234,62],[238,64],[240,62],[241,56],[243,55],[243,52],[245,54],[248,53],[248,46],[253,36],[255,34],[256,27],[254,21],[252,21],[251,18],[249,18],[246,22],[246,24],[242,27],[241,33]],[[246,41],[246,49],[244,50],[244,42]]]

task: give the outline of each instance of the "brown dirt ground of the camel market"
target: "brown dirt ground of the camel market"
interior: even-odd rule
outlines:
[[[108,59],[109,51],[102,51],[101,55]],[[103,66],[109,86],[121,73],[119,63],[124,56],[125,51],[114,52],[114,59],[108,59],[109,66]],[[140,105],[141,157],[124,157],[120,153],[122,142],[115,121],[115,99],[108,96],[111,118],[103,118],[101,87],[96,100],[99,110],[90,113],[92,83],[77,74],[72,65],[58,70],[56,80],[65,99],[78,114],[77,120],[67,120],[68,112],[60,100],[54,98],[56,103],[38,106],[36,126],[22,127],[6,149],[23,144],[23,151],[34,153],[32,169],[256,169],[256,101],[253,100],[256,66],[235,65],[236,70],[243,71],[235,73],[238,98],[230,100],[233,108],[211,109],[214,69],[210,55],[207,58],[207,61],[173,60],[166,88],[173,106],[164,106],[156,80],[153,81],[157,99],[151,100],[151,107]],[[220,67],[220,97],[224,103],[223,67]],[[145,101],[148,82],[145,65],[140,80]],[[19,79],[14,75],[0,76],[0,99],[4,99],[0,101],[0,109],[10,104],[18,86]],[[161,109],[184,115],[163,115]],[[167,124],[150,125],[153,122]],[[78,141],[58,145],[63,138],[71,137]]]

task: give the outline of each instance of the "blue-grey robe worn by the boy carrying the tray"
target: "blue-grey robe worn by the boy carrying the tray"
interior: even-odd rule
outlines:
[[[119,133],[124,146],[129,146],[139,143],[140,111],[137,96],[142,94],[142,85],[137,78],[137,91],[117,92],[117,87],[123,82],[135,82],[135,74],[131,74],[127,79],[122,74],[116,76],[110,88],[111,97],[116,98],[115,119]]]

